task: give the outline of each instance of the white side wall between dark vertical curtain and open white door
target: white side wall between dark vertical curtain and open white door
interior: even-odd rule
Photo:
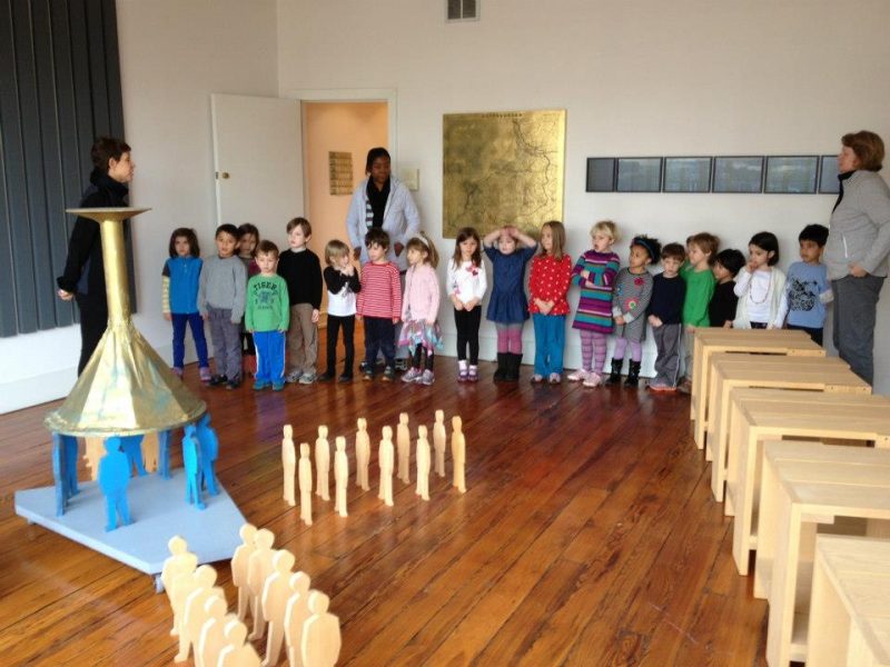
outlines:
[[[215,190],[210,92],[277,92],[275,0],[118,0],[126,139],[136,178],[134,221],[139,315],[148,341],[171,358],[160,316],[160,270],[174,228],[194,227],[211,251]],[[70,202],[77,203],[77,202]],[[7,362],[0,412],[68,394],[77,375],[77,326],[0,340]]]

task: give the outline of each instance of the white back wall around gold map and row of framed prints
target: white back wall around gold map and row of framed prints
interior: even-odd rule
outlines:
[[[615,219],[625,238],[695,231],[745,248],[779,236],[781,266],[797,235],[827,223],[832,196],[593,195],[592,156],[831,153],[870,129],[890,143],[890,3],[884,0],[486,0],[482,20],[446,24],[443,2],[279,0],[279,90],[396,88],[395,161],[419,167],[416,201],[445,252],[442,115],[567,109],[564,220],[570,250]],[[886,172],[890,169],[886,169]],[[626,257],[626,245],[619,250]],[[444,275],[444,268],[442,269]],[[576,292],[572,292],[573,300]],[[453,348],[447,308],[442,326]],[[526,360],[531,327],[526,327]],[[878,389],[890,391],[890,291],[879,305]],[[644,369],[653,349],[646,348]],[[483,326],[483,354],[494,330]],[[570,334],[566,366],[578,364]]]

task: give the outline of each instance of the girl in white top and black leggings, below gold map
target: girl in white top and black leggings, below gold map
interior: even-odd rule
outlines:
[[[448,260],[448,296],[454,305],[454,323],[457,328],[458,382],[476,382],[479,379],[482,298],[488,287],[481,249],[479,235],[472,227],[464,227],[457,232],[454,255]]]

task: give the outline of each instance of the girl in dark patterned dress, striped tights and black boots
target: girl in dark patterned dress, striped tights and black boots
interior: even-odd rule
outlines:
[[[612,316],[615,318],[615,348],[612,351],[612,372],[606,385],[621,382],[621,367],[627,344],[631,346],[631,361],[627,366],[625,387],[640,385],[640,365],[643,358],[643,339],[646,337],[645,312],[652,296],[652,276],[646,267],[661,256],[661,243],[646,236],[634,237],[631,241],[629,266],[615,277],[612,297]]]

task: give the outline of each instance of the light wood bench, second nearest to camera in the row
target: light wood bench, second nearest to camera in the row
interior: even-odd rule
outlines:
[[[889,526],[890,450],[764,444],[754,596],[770,603],[771,667],[809,663],[817,530],[884,537]]]

